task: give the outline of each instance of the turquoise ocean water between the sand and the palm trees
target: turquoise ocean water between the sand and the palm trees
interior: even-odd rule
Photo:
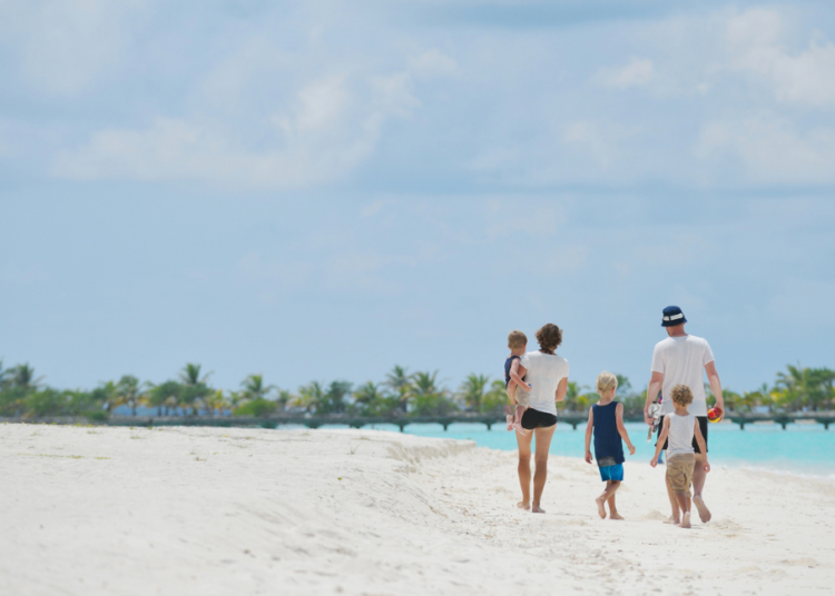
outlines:
[[[649,461],[655,451],[655,437],[647,443],[647,425],[628,423],[626,427],[636,447],[636,454],[631,457],[625,447],[627,460]],[[376,425],[373,428],[400,430],[394,425]],[[471,439],[481,447],[492,449],[517,448],[514,433],[508,433],[500,425],[488,430],[484,425],[459,424],[450,425],[446,431],[441,425],[409,425],[405,433],[421,437]],[[759,467],[835,478],[835,426],[824,430],[819,424],[792,424],[783,430],[779,425],[756,424],[746,425],[745,430],[740,430],[738,425],[715,424],[709,426],[708,436],[711,465]],[[584,437],[584,425],[573,430],[570,425],[558,424],[551,453],[583,457]]]

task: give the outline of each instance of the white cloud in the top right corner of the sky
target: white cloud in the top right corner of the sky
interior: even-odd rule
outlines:
[[[783,38],[777,11],[752,10],[733,17],[727,24],[733,68],[767,79],[779,101],[835,105],[835,46],[813,40],[805,51],[792,54]]]

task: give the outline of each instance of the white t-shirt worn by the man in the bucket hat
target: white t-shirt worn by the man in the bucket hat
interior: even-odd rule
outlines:
[[[671,414],[670,391],[676,385],[687,385],[692,391],[692,404],[687,411],[694,416],[707,416],[705,394],[705,366],[714,361],[714,352],[707,339],[696,336],[668,337],[656,344],[652,350],[652,372],[664,374],[661,384],[661,415]]]

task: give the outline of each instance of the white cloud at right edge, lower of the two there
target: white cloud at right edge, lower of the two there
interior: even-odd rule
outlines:
[[[803,131],[785,118],[767,113],[741,121],[703,126],[696,155],[719,176],[763,183],[835,181],[835,131]]]

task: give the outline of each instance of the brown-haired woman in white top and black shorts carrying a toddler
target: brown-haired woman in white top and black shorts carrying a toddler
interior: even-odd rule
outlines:
[[[568,360],[554,354],[562,344],[562,329],[553,324],[544,325],[537,331],[539,351],[529,351],[521,358],[519,376],[525,376],[530,384],[530,407],[522,416],[522,428],[517,430],[519,444],[519,484],[522,486],[522,500],[518,507],[531,509],[534,514],[546,513],[540,507],[542,489],[548,477],[548,449],[557,429],[557,401],[566,399],[568,388]],[[533,460],[533,503],[531,503],[531,440],[537,437],[537,451]]]

